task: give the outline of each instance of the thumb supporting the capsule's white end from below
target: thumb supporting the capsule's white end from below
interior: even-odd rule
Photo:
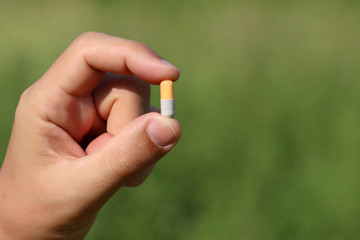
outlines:
[[[158,113],[143,115],[126,127],[99,151],[89,155],[92,164],[88,172],[97,173],[93,179],[108,191],[116,191],[129,181],[151,168],[178,142],[181,135],[179,123]],[[89,162],[88,162],[89,163]],[[89,165],[88,165],[89,166]],[[111,191],[113,192],[113,191]]]

